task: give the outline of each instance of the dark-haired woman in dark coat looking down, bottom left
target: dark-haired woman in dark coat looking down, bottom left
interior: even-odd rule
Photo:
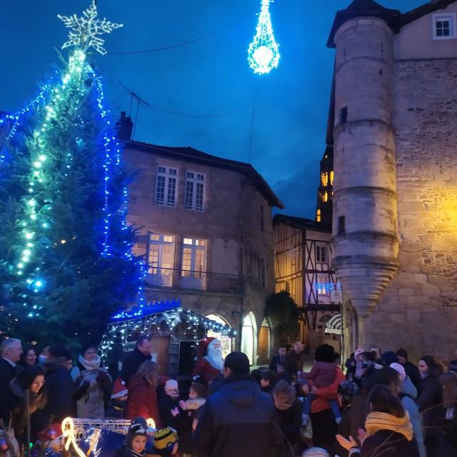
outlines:
[[[35,411],[46,405],[44,371],[38,365],[24,368],[10,383],[8,403],[14,437],[23,449],[28,443],[28,427]]]

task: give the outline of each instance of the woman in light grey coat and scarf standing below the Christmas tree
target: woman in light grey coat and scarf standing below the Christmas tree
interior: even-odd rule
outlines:
[[[101,419],[105,417],[105,404],[111,393],[113,381],[108,370],[101,364],[96,348],[88,347],[78,357],[78,363],[71,370],[76,384],[86,381],[89,387],[85,395],[76,402],[79,418]]]

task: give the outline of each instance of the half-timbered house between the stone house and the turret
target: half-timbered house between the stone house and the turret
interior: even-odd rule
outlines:
[[[273,241],[276,292],[290,293],[301,311],[298,339],[310,353],[322,343],[341,351],[339,336],[325,331],[341,303],[341,288],[331,268],[331,226],[276,214]]]

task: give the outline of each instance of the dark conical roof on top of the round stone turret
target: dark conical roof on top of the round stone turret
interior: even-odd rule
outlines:
[[[399,14],[401,14],[401,12],[398,11],[398,9],[385,8],[384,6],[376,3],[374,0],[353,0],[353,2],[346,9],[341,9],[336,13],[335,20],[333,21],[333,26],[330,31],[330,36],[328,36],[327,46],[329,48],[335,47],[333,37],[339,27],[346,21],[350,21],[356,17],[371,16],[384,19],[388,24],[390,24],[391,20]]]

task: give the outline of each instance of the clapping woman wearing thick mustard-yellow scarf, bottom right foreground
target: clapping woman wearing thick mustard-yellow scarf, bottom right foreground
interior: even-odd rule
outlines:
[[[387,386],[375,386],[368,396],[371,412],[366,416],[365,431],[361,431],[362,446],[356,440],[337,435],[343,448],[351,457],[419,457],[413,427],[408,413],[403,409],[399,398]]]

